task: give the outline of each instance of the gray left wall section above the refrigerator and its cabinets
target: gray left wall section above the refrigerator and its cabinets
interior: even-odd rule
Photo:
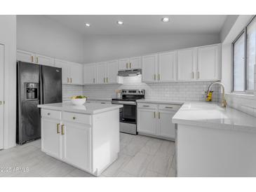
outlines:
[[[42,15],[17,16],[17,48],[83,62],[83,36]]]

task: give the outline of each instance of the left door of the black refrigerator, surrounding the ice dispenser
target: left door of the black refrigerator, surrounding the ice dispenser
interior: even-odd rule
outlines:
[[[39,84],[39,65],[18,62],[18,104],[16,142],[25,143],[41,135],[39,98],[27,98],[27,85]],[[34,90],[34,89],[33,89]]]

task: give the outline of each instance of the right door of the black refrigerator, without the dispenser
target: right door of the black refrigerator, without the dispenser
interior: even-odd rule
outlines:
[[[41,104],[62,102],[62,69],[41,65]]]

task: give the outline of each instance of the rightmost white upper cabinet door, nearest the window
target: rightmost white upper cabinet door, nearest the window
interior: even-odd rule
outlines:
[[[217,79],[218,46],[198,48],[198,74],[200,80]]]

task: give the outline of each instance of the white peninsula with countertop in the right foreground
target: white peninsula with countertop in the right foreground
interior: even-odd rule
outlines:
[[[256,118],[209,102],[173,116],[177,177],[255,177]]]

